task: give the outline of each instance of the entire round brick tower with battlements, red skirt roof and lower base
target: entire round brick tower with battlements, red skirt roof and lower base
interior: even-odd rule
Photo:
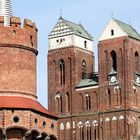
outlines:
[[[0,17],[0,140],[56,140],[57,117],[36,100],[37,28]]]

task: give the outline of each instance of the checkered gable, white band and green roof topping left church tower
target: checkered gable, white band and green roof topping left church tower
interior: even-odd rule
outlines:
[[[92,37],[81,24],[75,24],[62,17],[49,34],[49,50],[76,46],[93,51]]]

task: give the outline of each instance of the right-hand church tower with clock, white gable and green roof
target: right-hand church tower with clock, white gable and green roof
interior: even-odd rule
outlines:
[[[140,35],[131,25],[112,18],[100,36],[98,49],[104,139],[138,139]]]

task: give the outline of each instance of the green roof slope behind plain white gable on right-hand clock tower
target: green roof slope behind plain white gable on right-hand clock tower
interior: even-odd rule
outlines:
[[[114,19],[114,21],[120,26],[120,28],[130,37],[136,38],[140,40],[139,33],[129,24],[126,24],[124,22],[121,22],[117,19]]]

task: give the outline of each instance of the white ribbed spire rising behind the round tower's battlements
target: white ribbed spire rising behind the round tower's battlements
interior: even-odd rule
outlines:
[[[12,17],[11,0],[0,0],[0,16],[4,16],[4,25],[10,25],[10,17]]]

